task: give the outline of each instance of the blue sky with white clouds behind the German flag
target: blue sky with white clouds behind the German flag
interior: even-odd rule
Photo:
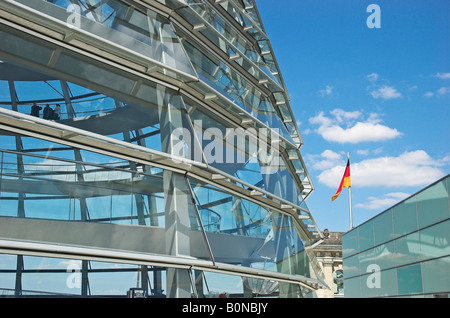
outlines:
[[[450,1],[257,0],[299,124],[321,230],[347,231],[450,173]],[[368,28],[369,4],[381,28]]]

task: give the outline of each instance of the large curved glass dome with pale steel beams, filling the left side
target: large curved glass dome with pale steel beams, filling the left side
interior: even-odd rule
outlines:
[[[0,38],[0,295],[327,288],[253,1],[1,1]]]

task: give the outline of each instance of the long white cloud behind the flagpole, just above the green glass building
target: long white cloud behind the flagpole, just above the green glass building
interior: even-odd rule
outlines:
[[[425,151],[417,150],[404,152],[398,157],[379,157],[351,163],[352,186],[425,186],[445,175],[439,167],[448,164],[446,158],[434,160]],[[322,171],[318,176],[319,182],[331,188],[339,185],[345,168],[342,162]]]

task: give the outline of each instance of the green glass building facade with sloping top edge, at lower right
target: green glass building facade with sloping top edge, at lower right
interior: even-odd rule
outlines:
[[[450,176],[342,237],[345,297],[448,297]]]

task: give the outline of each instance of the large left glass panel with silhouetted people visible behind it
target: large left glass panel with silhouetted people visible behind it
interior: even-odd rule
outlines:
[[[97,83],[104,82],[104,85],[118,91],[129,91],[134,85],[131,80],[72,57],[61,56],[59,61],[66,71],[78,74],[80,70],[84,70],[82,73],[86,79],[94,78],[95,73]],[[76,63],[76,66],[69,67],[65,62]],[[14,105],[11,98],[0,101],[1,107],[12,109],[14,106],[15,110],[25,114],[158,151],[169,152],[172,148],[168,145],[171,143],[178,151],[170,154],[203,161],[202,150],[184,111],[183,101],[177,92],[169,88],[162,85],[142,85],[137,97],[145,100],[143,105],[92,91],[16,64],[0,64],[0,68],[5,66],[8,66],[8,73],[4,73],[4,77],[9,78],[15,74],[20,79],[10,82],[9,86],[8,82],[0,81],[4,83],[0,86],[1,95],[8,96],[12,92],[16,98]],[[35,80],[36,78],[39,80]],[[36,113],[32,112],[35,107]],[[50,115],[47,115],[48,109]],[[167,120],[169,117],[170,125]]]

